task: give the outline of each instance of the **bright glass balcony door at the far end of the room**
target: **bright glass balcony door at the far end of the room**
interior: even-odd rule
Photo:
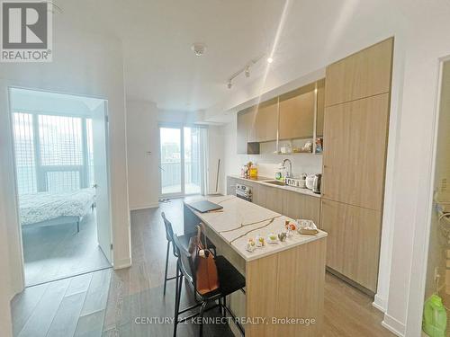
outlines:
[[[188,126],[159,128],[161,196],[203,194],[206,132]]]

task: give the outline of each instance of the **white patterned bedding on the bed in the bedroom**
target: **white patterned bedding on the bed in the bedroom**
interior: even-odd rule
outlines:
[[[63,193],[40,192],[20,200],[21,225],[31,225],[57,217],[84,217],[95,200],[94,189]]]

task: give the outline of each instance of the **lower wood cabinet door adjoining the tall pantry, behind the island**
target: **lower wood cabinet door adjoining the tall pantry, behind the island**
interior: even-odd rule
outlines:
[[[284,191],[283,214],[293,219],[310,219],[320,226],[320,198]]]

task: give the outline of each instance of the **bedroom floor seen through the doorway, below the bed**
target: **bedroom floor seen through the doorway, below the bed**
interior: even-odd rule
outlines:
[[[110,268],[97,244],[95,214],[76,224],[23,228],[26,286]]]

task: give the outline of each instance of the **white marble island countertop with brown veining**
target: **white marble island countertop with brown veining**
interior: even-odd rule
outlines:
[[[246,261],[252,261],[261,257],[290,249],[299,244],[308,244],[327,236],[320,231],[317,235],[300,235],[294,232],[285,242],[277,241],[276,244],[268,244],[257,248],[254,252],[247,252],[247,240],[257,235],[275,235],[284,231],[284,221],[293,220],[275,213],[267,208],[262,208],[254,203],[239,199],[235,196],[193,197],[184,200],[189,206],[198,200],[209,200],[223,207],[222,212],[200,213],[193,210],[206,226],[209,226],[216,234],[220,235],[233,249]]]

